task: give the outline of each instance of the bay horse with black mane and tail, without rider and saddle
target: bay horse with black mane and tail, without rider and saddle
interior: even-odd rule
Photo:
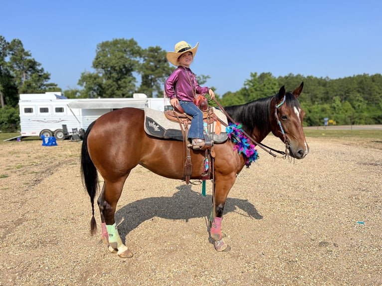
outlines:
[[[242,130],[260,143],[270,132],[286,144],[288,155],[302,159],[309,147],[305,140],[302,121],[305,112],[297,100],[303,83],[293,92],[284,86],[279,92],[263,99],[224,110]],[[104,179],[98,206],[101,215],[101,239],[111,252],[122,258],[133,253],[122,242],[114,214],[122,189],[130,171],[138,164],[150,171],[172,179],[184,177],[184,144],[182,141],[164,140],[149,136],[144,130],[145,113],[135,108],[122,108],[107,113],[94,121],[87,129],[81,149],[81,172],[92,204],[90,233],[94,235],[97,224],[94,217],[94,197],[98,190],[98,173]],[[227,140],[215,143],[213,178],[213,222],[210,237],[217,251],[227,251],[221,232],[224,204],[237,174],[246,164],[246,158]],[[203,171],[204,152],[191,150],[191,179],[197,179]]]

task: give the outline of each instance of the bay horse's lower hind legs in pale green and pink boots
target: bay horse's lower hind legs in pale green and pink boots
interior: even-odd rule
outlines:
[[[123,244],[114,219],[124,182],[125,180],[109,183],[105,181],[97,202],[102,222],[102,241],[109,245],[111,252],[117,252],[119,257],[130,258],[133,257],[133,253]]]

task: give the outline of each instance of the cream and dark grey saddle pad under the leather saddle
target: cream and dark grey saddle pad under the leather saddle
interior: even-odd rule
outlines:
[[[226,116],[218,109],[214,108],[214,113],[221,122],[227,124]],[[214,125],[215,127],[215,125]],[[190,128],[190,125],[189,125]],[[214,130],[213,130],[214,131]],[[163,138],[163,139],[175,139],[183,141],[183,135],[181,126],[177,122],[168,120],[165,117],[163,111],[157,111],[145,107],[145,132],[148,135]],[[223,143],[227,140],[228,134],[225,132],[225,126],[221,124],[221,133],[216,135],[215,133],[208,134],[209,138],[215,143]]]

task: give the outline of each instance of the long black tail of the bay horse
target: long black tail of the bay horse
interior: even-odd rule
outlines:
[[[90,221],[90,235],[93,236],[97,232],[97,222],[94,217],[94,197],[98,189],[98,173],[97,169],[90,158],[88,150],[88,136],[93,128],[95,121],[92,122],[86,130],[85,137],[82,141],[81,148],[81,176],[82,183],[85,185],[86,190],[90,196],[90,202],[92,203],[92,219]]]

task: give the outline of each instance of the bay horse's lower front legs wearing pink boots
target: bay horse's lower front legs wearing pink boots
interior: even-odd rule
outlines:
[[[215,194],[212,201],[214,217],[210,228],[210,236],[215,241],[216,251],[229,251],[231,249],[224,241],[225,234],[221,231],[221,221],[223,219],[225,201],[235,179],[235,175],[215,177]]]

